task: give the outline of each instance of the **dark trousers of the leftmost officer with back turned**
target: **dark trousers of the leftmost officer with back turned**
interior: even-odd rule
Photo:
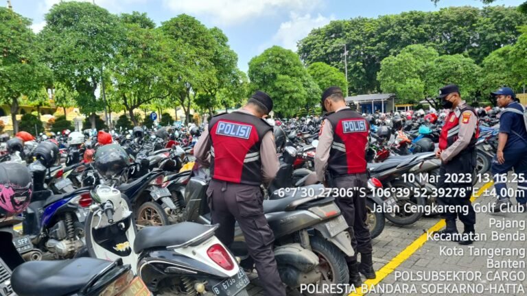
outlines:
[[[262,206],[264,197],[258,186],[211,180],[207,189],[212,223],[219,223],[216,237],[226,247],[234,240],[238,221],[244,233],[249,255],[253,258],[258,277],[266,295],[285,296],[285,287],[278,273],[272,245],[274,235],[267,223]]]

